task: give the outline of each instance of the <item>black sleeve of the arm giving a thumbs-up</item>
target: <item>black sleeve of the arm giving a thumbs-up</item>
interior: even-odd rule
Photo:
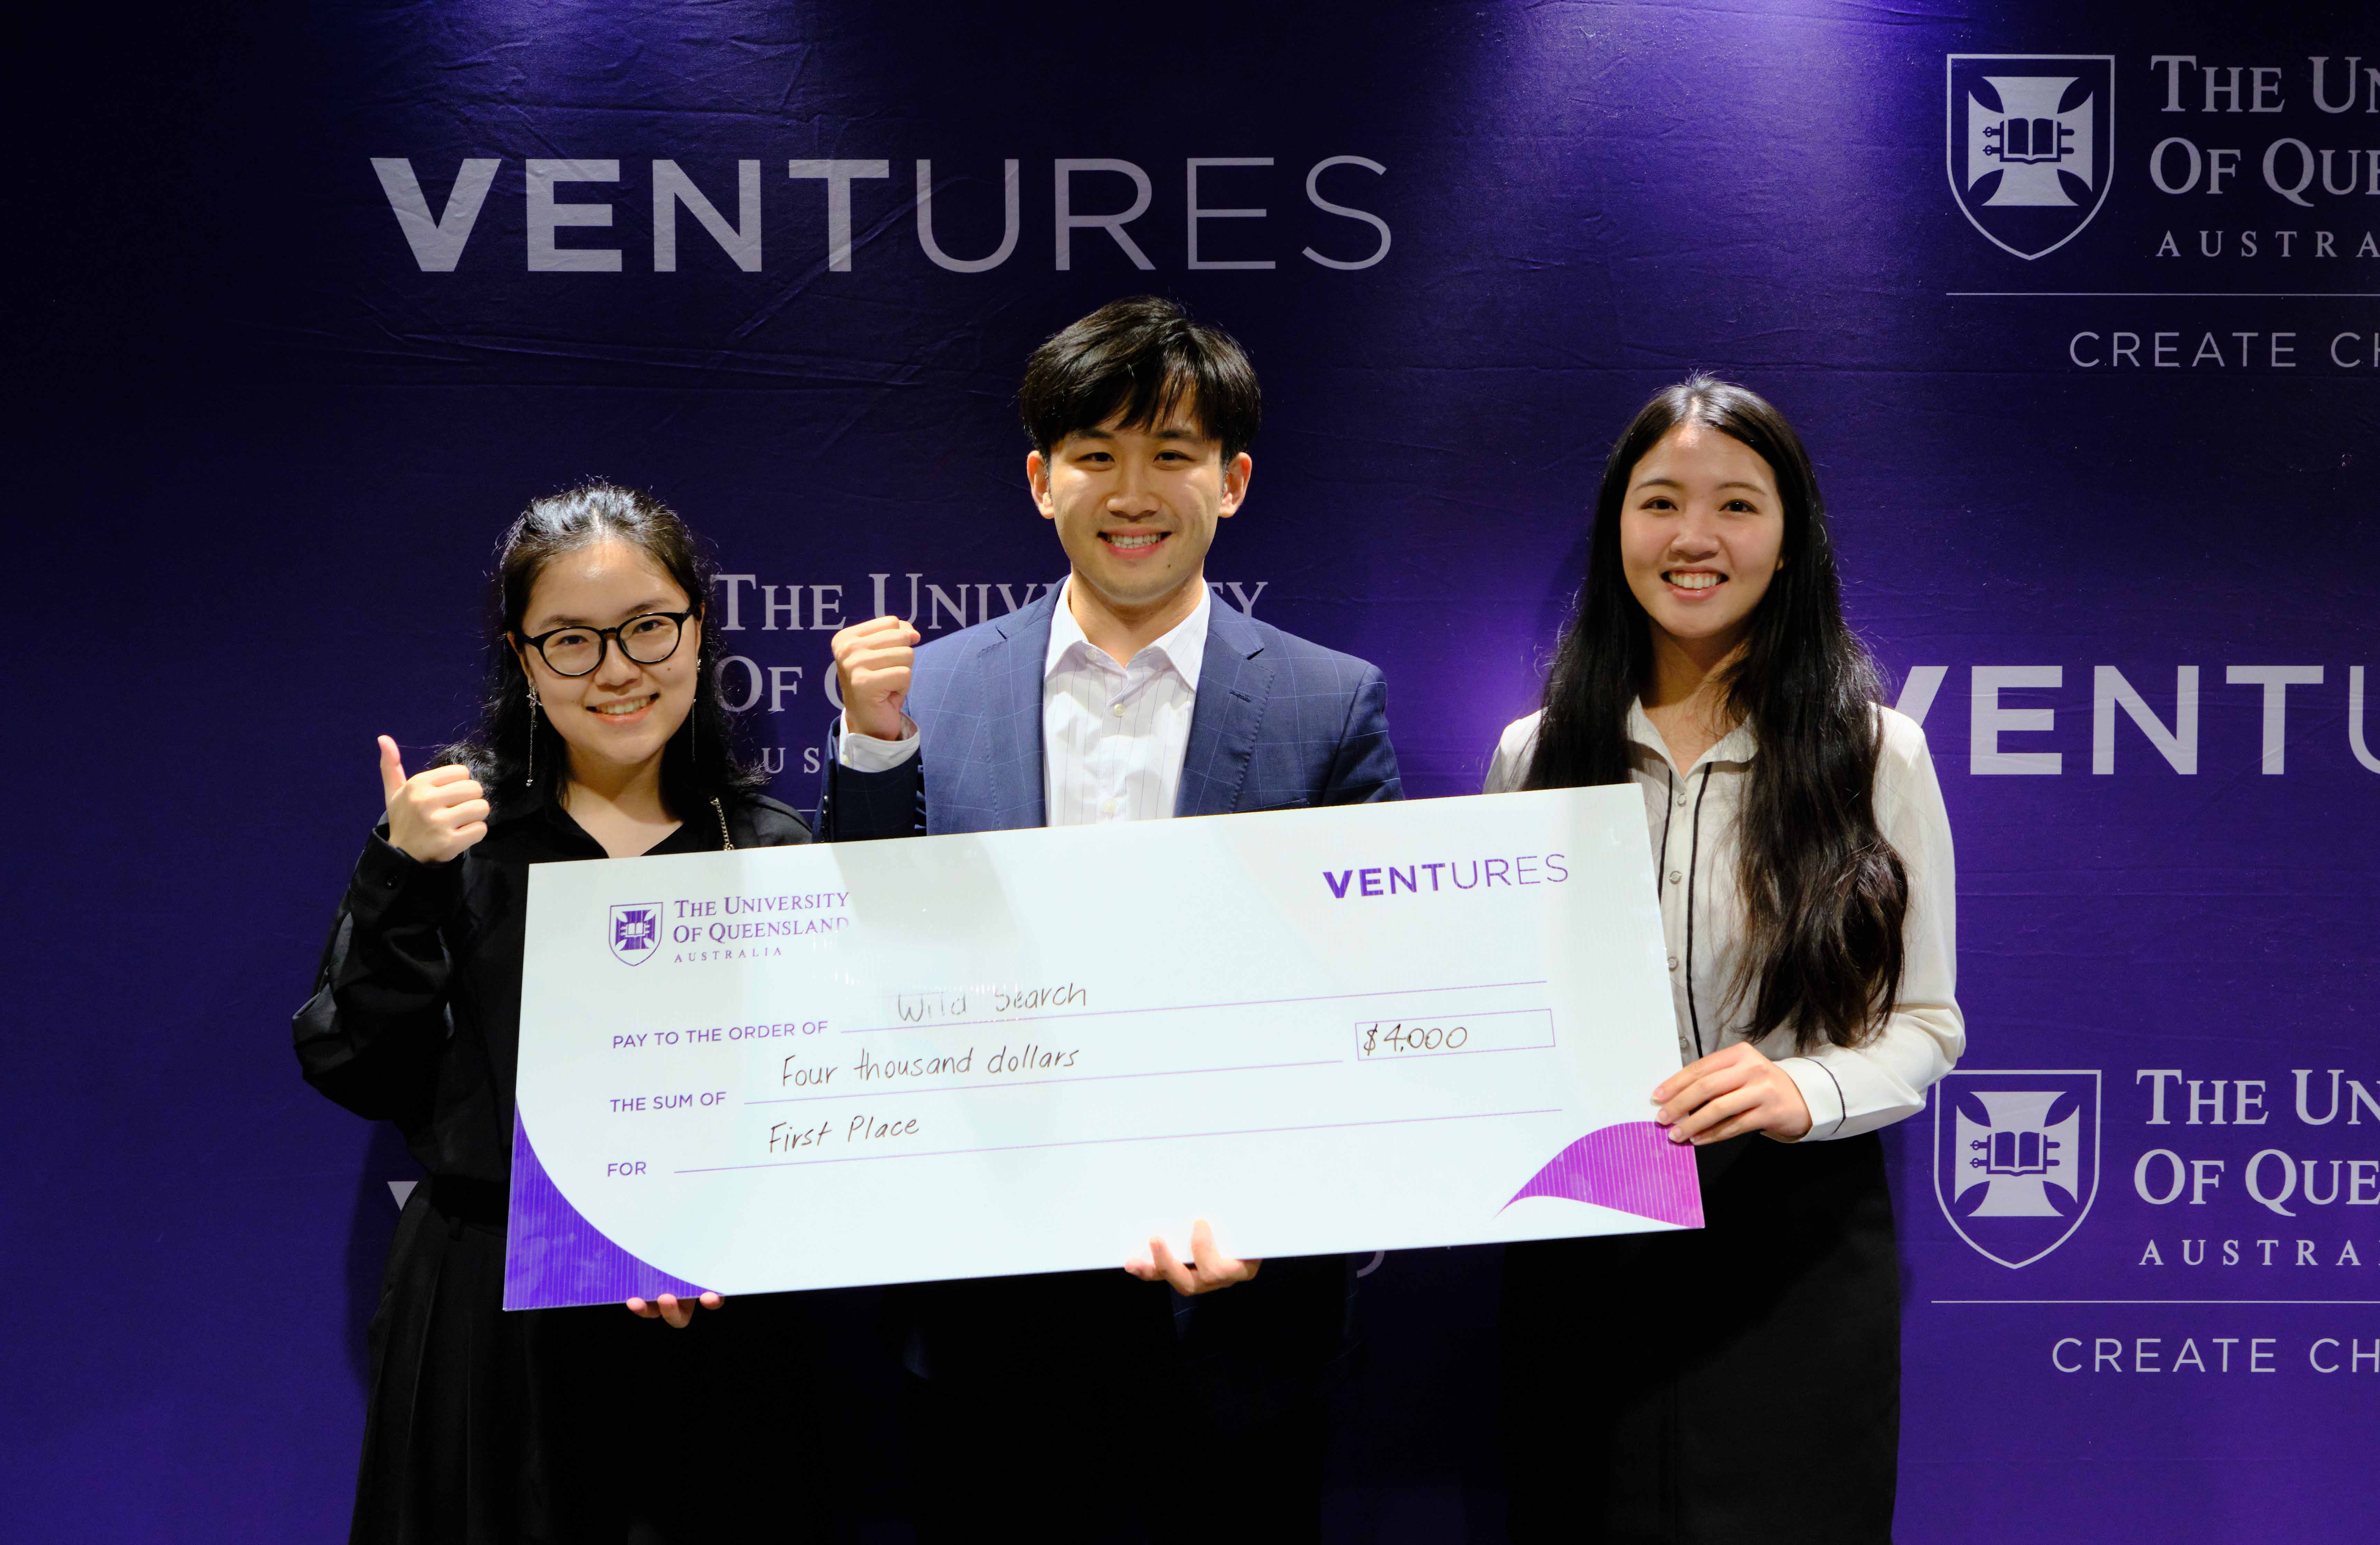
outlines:
[[[452,976],[440,926],[459,869],[414,862],[374,833],[331,919],[314,995],[290,1019],[305,1081],[359,1116],[431,1116]]]

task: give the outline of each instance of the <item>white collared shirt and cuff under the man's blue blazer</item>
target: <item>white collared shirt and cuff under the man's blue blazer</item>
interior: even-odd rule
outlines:
[[[1042,655],[1042,809],[1050,826],[1157,821],[1173,814],[1197,712],[1197,674],[1207,657],[1214,593],[1200,586],[1197,609],[1173,631],[1116,664],[1083,638],[1066,605],[1073,578],[1050,614]],[[916,726],[900,740],[845,728],[835,759],[852,771],[890,771],[916,755]]]

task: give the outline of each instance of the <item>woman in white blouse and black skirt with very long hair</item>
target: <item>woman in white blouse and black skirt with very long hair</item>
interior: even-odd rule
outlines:
[[[1842,624],[1792,426],[1695,376],[1604,467],[1545,709],[1488,793],[1633,781],[1706,1226],[1514,1245],[1514,1540],[1892,1538],[1899,1271],[1875,1128],[1966,1045],[1942,790]]]

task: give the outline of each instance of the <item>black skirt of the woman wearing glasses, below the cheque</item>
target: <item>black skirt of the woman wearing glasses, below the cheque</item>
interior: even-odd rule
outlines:
[[[371,1319],[355,1545],[847,1535],[797,1295],[671,1331],[619,1305],[507,1314],[502,1286],[497,1188],[419,1186]]]

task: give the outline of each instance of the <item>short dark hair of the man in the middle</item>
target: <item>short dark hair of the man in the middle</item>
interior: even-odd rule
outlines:
[[[1050,455],[1066,436],[1119,414],[1123,429],[1164,424],[1185,395],[1200,436],[1221,443],[1226,462],[1257,440],[1264,395],[1230,333],[1190,321],[1159,295],[1133,295],[1033,350],[1016,412],[1033,450]]]

